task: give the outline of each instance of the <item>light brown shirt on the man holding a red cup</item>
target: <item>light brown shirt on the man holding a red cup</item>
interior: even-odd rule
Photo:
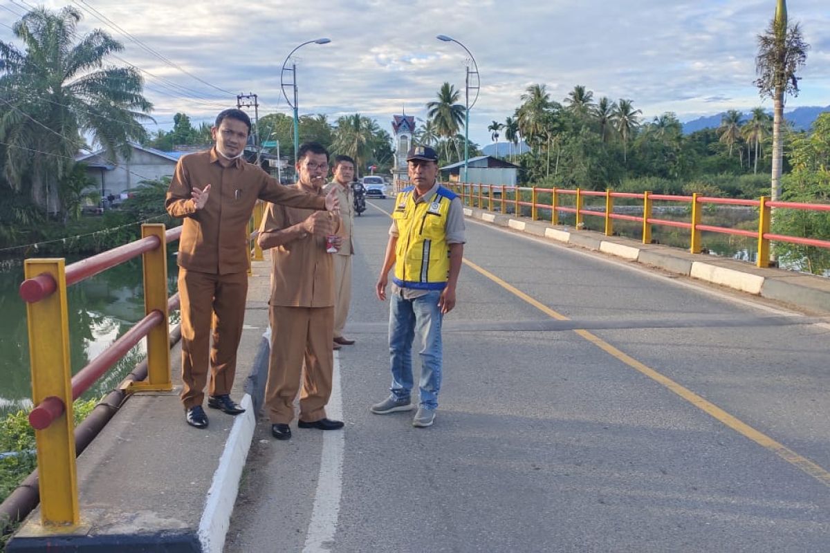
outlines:
[[[294,190],[308,190],[293,184]],[[325,192],[317,191],[322,198]],[[260,232],[285,230],[308,218],[314,210],[269,203]],[[336,216],[335,216],[336,217]],[[335,221],[337,228],[339,221]],[[334,261],[325,251],[325,236],[305,238],[271,248],[270,305],[295,308],[334,307]]]

